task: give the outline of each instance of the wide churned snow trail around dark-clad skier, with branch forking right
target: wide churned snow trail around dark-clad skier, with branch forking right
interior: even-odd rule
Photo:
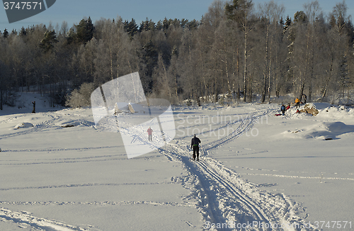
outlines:
[[[261,116],[273,111],[252,113],[245,120],[234,121],[239,126],[232,133],[203,145],[200,162],[190,159],[189,145],[181,139],[175,139],[175,144],[160,149],[167,158],[180,162],[187,171],[186,176],[172,180],[190,189],[191,194],[185,200],[198,201],[197,208],[205,223],[203,230],[297,230],[305,224],[306,214],[298,203],[281,193],[273,195],[261,191],[260,186],[241,179],[239,174],[221,162],[207,157],[208,152],[244,135]],[[306,230],[314,228],[307,227]]]

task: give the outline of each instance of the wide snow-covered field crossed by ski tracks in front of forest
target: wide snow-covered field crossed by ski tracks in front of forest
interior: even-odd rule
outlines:
[[[127,159],[91,108],[35,97],[0,111],[0,230],[354,229],[353,108],[174,106],[176,137]]]

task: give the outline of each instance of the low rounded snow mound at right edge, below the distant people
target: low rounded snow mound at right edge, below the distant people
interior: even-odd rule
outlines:
[[[282,133],[285,136],[311,139],[319,138],[323,140],[335,140],[338,139],[339,135],[345,133],[354,133],[354,125],[346,125],[342,122],[331,122],[331,123],[316,123],[302,130],[285,131]]]

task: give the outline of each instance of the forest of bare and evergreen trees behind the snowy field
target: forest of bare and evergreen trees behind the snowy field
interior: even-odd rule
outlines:
[[[324,15],[318,1],[293,18],[270,1],[214,1],[200,21],[85,18],[68,28],[36,25],[0,32],[0,96],[13,106],[20,91],[64,105],[100,84],[139,72],[147,96],[171,103],[301,96],[350,103],[354,28],[345,1]],[[88,92],[89,91],[89,92]],[[87,98],[86,96],[86,98]],[[258,97],[259,99],[259,97]],[[84,106],[86,103],[79,103]]]

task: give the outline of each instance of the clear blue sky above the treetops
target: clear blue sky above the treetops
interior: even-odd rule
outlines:
[[[8,0],[11,1],[11,0]],[[93,23],[100,18],[116,18],[122,17],[123,20],[130,21],[132,18],[141,23],[145,18],[152,19],[157,22],[166,18],[186,18],[188,20],[200,20],[202,15],[207,12],[208,7],[213,0],[57,0],[55,4],[46,11],[27,18],[16,23],[8,23],[6,12],[0,9],[0,30],[4,31],[7,28],[9,31],[16,28],[19,30],[24,26],[46,24],[52,21],[55,26],[59,23],[61,26],[63,21],[67,21],[68,26],[72,27],[79,23],[82,18],[91,16]],[[291,18],[297,11],[303,10],[303,5],[308,3],[308,0],[274,0],[278,4],[285,6],[285,17],[289,15]],[[333,6],[342,0],[319,0],[322,11],[329,13]],[[265,0],[253,0],[255,6],[258,3],[265,3]],[[348,15],[354,17],[354,1],[347,0]],[[353,18],[352,18],[353,20]]]

